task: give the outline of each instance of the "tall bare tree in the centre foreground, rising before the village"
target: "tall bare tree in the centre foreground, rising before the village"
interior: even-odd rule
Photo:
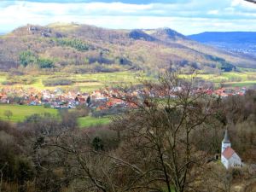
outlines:
[[[215,100],[204,89],[197,89],[197,85],[193,75],[183,81],[177,73],[166,73],[160,83],[144,84],[138,100],[123,93],[117,96],[137,106],[137,110],[116,121],[120,125],[115,129],[121,132],[126,145],[133,143],[130,148],[145,155],[144,165],[148,166],[141,169],[143,178],[150,181],[144,183],[144,188],[183,192],[189,189],[196,167],[205,163],[206,154],[195,150],[192,133],[209,124]]]

